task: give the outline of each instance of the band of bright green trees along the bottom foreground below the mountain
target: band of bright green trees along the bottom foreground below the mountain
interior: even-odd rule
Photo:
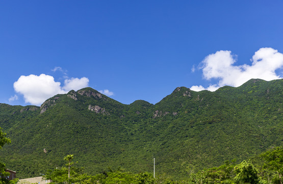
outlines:
[[[168,174],[152,175],[148,172],[131,173],[123,169],[109,169],[108,172],[96,175],[84,173],[84,168],[74,166],[72,162],[74,155],[67,155],[64,160],[66,165],[62,168],[48,170],[43,176],[44,179],[51,179],[53,183],[280,183],[282,184],[283,174],[283,148],[274,148],[251,160],[243,160],[235,164],[236,160],[226,161],[219,167],[203,169],[196,172],[194,167],[186,169],[187,175],[181,180],[174,180]]]

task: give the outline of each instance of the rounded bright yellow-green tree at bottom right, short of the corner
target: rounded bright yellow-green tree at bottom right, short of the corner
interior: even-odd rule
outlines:
[[[258,176],[258,170],[248,160],[244,160],[241,164],[234,168],[236,173],[235,180],[239,180],[244,183],[256,184],[260,179]]]

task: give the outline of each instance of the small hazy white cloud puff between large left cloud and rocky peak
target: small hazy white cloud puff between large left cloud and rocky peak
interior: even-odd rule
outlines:
[[[89,79],[86,77],[79,78],[71,78],[71,79],[65,79],[64,81],[64,90],[70,91],[70,90],[79,90],[84,87],[87,87],[89,83]]]

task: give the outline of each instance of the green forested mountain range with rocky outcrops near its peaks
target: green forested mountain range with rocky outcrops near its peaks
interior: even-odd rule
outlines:
[[[109,167],[152,172],[155,158],[156,172],[182,177],[191,166],[241,162],[283,146],[282,102],[282,79],[214,92],[177,87],[155,105],[72,90],[40,107],[0,104],[0,127],[12,141],[0,154],[20,178],[62,166],[67,154],[90,174]]]

